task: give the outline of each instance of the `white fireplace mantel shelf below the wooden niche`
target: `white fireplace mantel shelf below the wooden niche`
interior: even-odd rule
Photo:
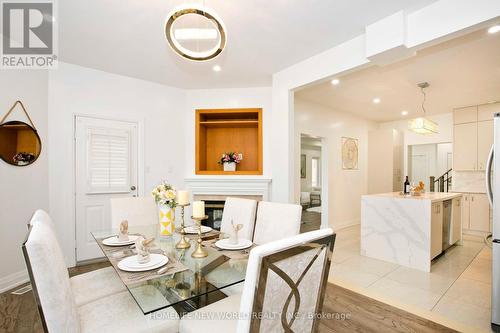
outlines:
[[[195,195],[260,196],[270,200],[271,179],[263,177],[203,177],[185,178],[186,187]]]

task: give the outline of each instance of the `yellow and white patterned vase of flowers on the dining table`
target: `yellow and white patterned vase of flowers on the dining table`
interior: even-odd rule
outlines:
[[[175,231],[175,206],[177,191],[175,188],[163,182],[156,186],[151,192],[158,205],[158,217],[160,223],[160,236],[170,237]]]

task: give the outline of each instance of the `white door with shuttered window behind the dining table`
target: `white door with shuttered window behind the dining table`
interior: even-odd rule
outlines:
[[[109,200],[138,193],[137,123],[75,118],[77,261],[102,257],[91,232],[111,228]]]

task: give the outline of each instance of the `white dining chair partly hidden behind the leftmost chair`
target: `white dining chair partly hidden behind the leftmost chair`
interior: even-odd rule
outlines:
[[[56,229],[51,217],[45,211],[37,210],[29,225],[31,226],[34,222],[45,224],[50,228],[51,236],[54,242],[57,243],[55,248],[59,252],[58,255],[63,256],[61,243],[57,238]],[[70,284],[77,306],[127,290],[113,267],[100,268],[73,276],[70,278]]]

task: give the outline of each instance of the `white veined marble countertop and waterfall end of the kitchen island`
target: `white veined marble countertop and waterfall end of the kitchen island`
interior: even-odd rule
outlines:
[[[460,193],[364,195],[361,199],[361,255],[429,272],[431,206]]]

